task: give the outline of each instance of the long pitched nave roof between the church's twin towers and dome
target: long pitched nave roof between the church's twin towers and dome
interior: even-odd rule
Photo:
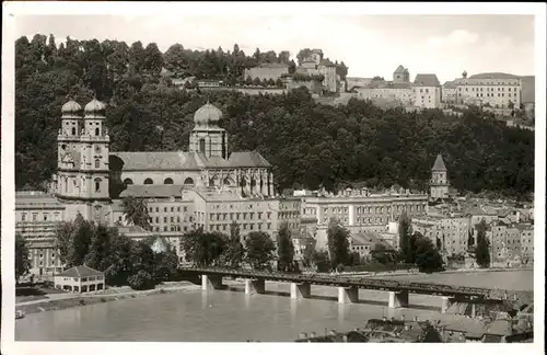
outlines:
[[[110,157],[121,159],[123,171],[199,169],[196,154],[186,151],[117,151]]]

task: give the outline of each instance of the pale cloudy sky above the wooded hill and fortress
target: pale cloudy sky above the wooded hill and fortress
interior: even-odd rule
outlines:
[[[398,65],[435,73],[441,82],[479,72],[533,76],[533,15],[18,15],[15,34],[54,34],[59,41],[109,38],[156,43],[162,51],[236,43],[247,55],[321,48],[344,61],[349,77],[391,80]],[[389,78],[389,79],[388,79]]]

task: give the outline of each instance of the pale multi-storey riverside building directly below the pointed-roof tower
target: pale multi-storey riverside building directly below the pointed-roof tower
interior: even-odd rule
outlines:
[[[412,231],[431,240],[447,255],[464,255],[469,238],[469,218],[454,217],[416,217],[412,218]]]

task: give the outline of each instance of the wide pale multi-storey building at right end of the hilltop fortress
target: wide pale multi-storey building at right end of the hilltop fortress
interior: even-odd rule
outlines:
[[[457,103],[490,105],[496,108],[519,108],[521,99],[521,78],[504,72],[485,72],[470,76],[463,72],[454,80],[457,88]]]

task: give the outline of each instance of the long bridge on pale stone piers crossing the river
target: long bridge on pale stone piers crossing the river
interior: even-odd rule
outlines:
[[[220,267],[183,267],[182,271],[197,274],[201,277],[201,288],[223,288],[222,277],[238,277],[245,279],[245,294],[264,294],[265,280],[284,282],[291,284],[291,298],[301,299],[311,296],[311,285],[338,287],[338,302],[349,304],[359,301],[359,289],[384,290],[388,293],[388,307],[408,307],[409,294],[435,295],[441,297],[441,310],[457,302],[488,304],[488,302],[517,302],[520,291],[491,289],[480,287],[465,287],[441,285],[432,283],[417,283],[395,279],[379,279],[369,277],[348,277],[325,274],[291,274],[280,272],[264,272],[245,268]]]

